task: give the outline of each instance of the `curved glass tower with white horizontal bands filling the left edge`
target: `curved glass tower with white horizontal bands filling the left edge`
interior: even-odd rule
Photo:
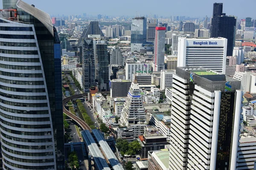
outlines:
[[[3,7],[17,9],[0,14],[3,169],[64,170],[58,33],[30,4],[4,0]]]

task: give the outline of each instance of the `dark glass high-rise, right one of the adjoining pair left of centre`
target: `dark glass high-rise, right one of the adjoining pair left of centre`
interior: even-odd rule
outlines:
[[[108,48],[105,41],[95,44],[96,57],[96,78],[98,79],[98,91],[109,91],[109,72],[108,72]]]

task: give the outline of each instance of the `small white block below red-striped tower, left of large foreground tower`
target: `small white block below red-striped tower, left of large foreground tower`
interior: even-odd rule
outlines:
[[[166,88],[172,88],[172,78],[175,74],[175,70],[161,70],[160,90],[163,91]]]

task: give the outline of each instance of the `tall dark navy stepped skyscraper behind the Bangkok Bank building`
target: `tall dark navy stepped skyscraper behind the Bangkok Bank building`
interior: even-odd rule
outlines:
[[[212,37],[227,38],[227,56],[232,56],[235,46],[236,18],[222,13],[222,3],[214,3],[212,18]],[[215,14],[215,12],[217,13]],[[221,11],[221,14],[219,12]]]

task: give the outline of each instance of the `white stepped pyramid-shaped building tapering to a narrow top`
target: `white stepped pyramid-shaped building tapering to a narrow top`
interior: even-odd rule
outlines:
[[[135,80],[131,83],[120,119],[121,126],[132,127],[135,138],[144,134],[146,122],[145,108],[140,93],[139,84]]]

